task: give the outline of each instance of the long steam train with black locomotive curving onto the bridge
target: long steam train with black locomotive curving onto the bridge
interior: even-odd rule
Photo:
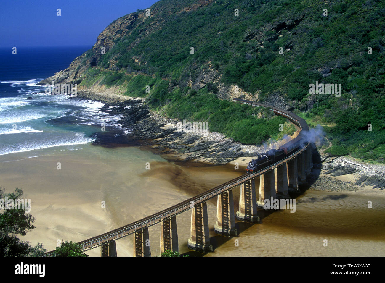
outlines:
[[[290,155],[290,153],[295,151],[297,148],[301,148],[305,145],[306,135],[310,130],[305,119],[299,117],[298,115],[290,111],[286,111],[278,107],[260,103],[257,101],[252,102],[252,101],[244,100],[240,98],[233,98],[233,102],[240,102],[240,103],[251,105],[254,107],[268,108],[269,110],[273,111],[276,115],[281,115],[283,117],[288,118],[289,120],[291,120],[291,122],[295,123],[296,125],[298,125],[298,127],[301,128],[300,133],[298,133],[297,137],[288,141],[284,145],[281,145],[278,148],[278,150],[275,150],[275,149],[269,150],[268,152],[258,156],[256,159],[252,158],[251,161],[249,161],[248,165],[246,166],[246,173],[249,173],[249,174],[254,173],[275,162],[278,162],[283,158],[285,158],[286,156]]]

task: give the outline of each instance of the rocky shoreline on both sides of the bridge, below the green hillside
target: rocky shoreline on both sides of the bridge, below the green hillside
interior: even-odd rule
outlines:
[[[177,119],[169,119],[152,112],[144,103],[144,99],[131,98],[111,93],[78,92],[80,99],[92,99],[105,103],[101,111],[121,115],[117,124],[129,130],[127,135],[122,130],[106,130],[94,134],[94,144],[107,147],[124,145],[141,145],[151,148],[155,153],[166,156],[169,160],[197,161],[210,165],[225,165],[233,161],[245,166],[251,157],[260,155],[270,148],[266,146],[243,145],[226,138],[221,133],[204,132],[189,133],[178,129]],[[170,157],[172,156],[172,158]],[[243,162],[244,161],[244,162]],[[385,188],[385,165],[364,166],[349,164],[354,161],[346,157],[320,155],[320,169],[327,164],[326,170],[314,188],[328,190],[357,190],[358,186]],[[324,169],[324,168],[323,168]],[[380,174],[382,172],[382,174]],[[357,180],[349,182],[335,180],[329,176],[357,174]]]

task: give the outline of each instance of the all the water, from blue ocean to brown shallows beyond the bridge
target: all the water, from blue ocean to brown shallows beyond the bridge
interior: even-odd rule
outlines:
[[[0,50],[0,187],[7,193],[21,188],[31,199],[36,228],[20,238],[48,250],[55,249],[58,240],[78,242],[127,225],[241,174],[233,165],[167,161],[144,147],[92,145],[91,136],[100,125],[119,127],[119,117],[100,112],[103,103],[47,95],[45,87],[36,86],[88,48],[18,48],[17,55]],[[233,194],[238,211],[239,187]],[[368,200],[373,209],[367,207]],[[384,255],[383,192],[310,188],[297,197],[296,205],[296,213],[258,211],[258,224],[238,221],[239,243],[234,245],[234,238],[214,233],[217,200],[209,200],[215,250],[207,256]],[[187,253],[191,212],[176,217],[179,252]],[[160,254],[160,228],[149,228],[153,256]],[[133,255],[133,238],[117,240],[118,256]],[[100,256],[100,248],[87,254]]]

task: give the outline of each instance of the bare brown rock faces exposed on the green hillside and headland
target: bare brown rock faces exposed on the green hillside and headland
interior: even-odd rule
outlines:
[[[180,13],[189,13],[193,10],[209,5],[213,1],[214,0],[199,0],[195,3],[190,3],[190,5],[187,5],[186,7],[174,7],[172,13],[175,14],[175,17],[177,17],[177,15]],[[151,35],[151,33],[161,30],[162,26],[167,24],[165,15],[169,15],[171,13],[171,10],[163,10],[162,5],[158,3],[159,2],[155,3],[150,7],[151,13],[149,16],[146,15],[145,10],[142,10],[140,12],[125,15],[112,22],[108,27],[105,28],[105,30],[100,33],[100,35],[97,37],[94,46],[90,50],[87,50],[87,52],[84,52],[81,56],[75,58],[68,68],[55,73],[55,75],[53,75],[52,77],[42,80],[39,84],[44,85],[47,83],[77,83],[79,85],[82,82],[82,79],[86,77],[85,72],[90,67],[100,68],[100,65],[98,66],[98,63],[101,60],[103,53],[105,54],[109,50],[111,50],[111,48],[114,47],[115,44],[119,43],[122,38],[126,36],[129,37],[134,31],[136,31],[135,35],[132,35],[136,37],[135,40],[133,40],[132,43],[127,47],[127,50],[130,50],[131,48],[135,47],[143,38],[146,38],[147,36]],[[148,22],[145,22],[146,20],[148,20],[148,18],[153,18],[149,24]],[[295,22],[298,22],[298,20],[296,20]],[[265,29],[278,30],[280,28],[286,27],[283,27],[283,25],[285,25],[285,23],[277,23],[274,26],[265,27]],[[248,35],[246,35],[246,37],[244,38],[244,42],[257,38],[260,41],[258,43],[259,46],[262,46],[263,48],[263,33],[261,31],[259,31],[259,33],[249,32]],[[121,55],[122,54],[119,53],[115,54],[114,57],[112,57],[112,59],[109,61],[109,67],[104,70],[119,71],[120,68],[116,66],[116,58]],[[132,59],[134,59],[138,65],[146,64],[146,62],[144,62],[141,56]],[[136,75],[138,73],[141,73],[129,72],[129,70],[125,70],[125,72],[128,75]],[[187,86],[191,87],[194,90],[199,90],[201,88],[206,87],[208,83],[214,83],[218,88],[218,92],[216,93],[216,95],[219,99],[231,100],[232,98],[243,98],[251,101],[258,100],[258,92],[249,93],[244,91],[237,85],[226,85],[221,82],[222,74],[218,72],[218,70],[213,66],[211,61],[203,64],[194,64],[189,68],[183,70],[183,73],[185,75],[181,76],[179,80],[171,80],[170,85],[168,87],[169,91],[176,87],[184,88]],[[154,74],[141,74],[151,75],[152,77],[154,77]],[[99,82],[96,82],[95,85],[91,87],[78,86],[78,90],[94,92],[95,90],[103,88],[103,86],[100,86],[98,84]],[[288,108],[288,105],[280,94],[273,94],[269,98],[269,101],[266,101],[266,103],[271,103],[272,105],[276,105],[285,109]]]

